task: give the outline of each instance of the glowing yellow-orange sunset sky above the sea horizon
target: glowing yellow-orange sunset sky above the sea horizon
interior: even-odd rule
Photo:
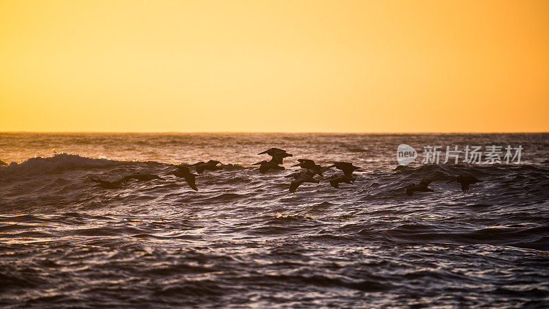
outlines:
[[[0,131],[549,131],[549,1],[0,0]]]

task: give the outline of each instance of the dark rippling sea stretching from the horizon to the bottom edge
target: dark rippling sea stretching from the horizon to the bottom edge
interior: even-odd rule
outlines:
[[[393,171],[401,143],[420,157],[524,149],[520,164]],[[288,171],[250,166],[270,147],[294,154]],[[547,308],[548,155],[549,134],[3,133],[0,306]],[[362,169],[290,194],[297,158]],[[197,177],[198,192],[169,175],[209,159],[233,165]],[[164,180],[89,180],[130,173]],[[462,173],[484,182],[464,195],[446,183]],[[433,193],[401,190],[425,177]]]

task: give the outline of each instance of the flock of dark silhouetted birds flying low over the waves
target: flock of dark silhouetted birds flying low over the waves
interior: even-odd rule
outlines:
[[[293,156],[287,151],[279,148],[271,148],[261,153],[258,153],[258,155],[261,154],[268,154],[272,158],[269,161],[263,160],[261,162],[252,164],[259,165],[260,173],[267,173],[270,170],[283,171],[285,169],[284,166],[282,166],[283,159]],[[314,160],[310,159],[298,159],[298,162],[298,164],[292,165],[292,167],[299,166],[302,170],[285,176],[294,178],[294,180],[290,183],[290,193],[295,193],[297,188],[299,188],[299,186],[301,186],[301,184],[304,184],[305,182],[318,184],[321,180],[327,180],[334,188],[339,188],[340,184],[353,184],[356,180],[353,172],[360,169],[360,167],[354,166],[351,162],[338,161],[334,162],[334,164],[332,164],[331,166],[320,166],[319,164],[316,164]],[[196,176],[198,175],[191,173],[190,167],[194,167],[196,173],[198,173],[198,175],[202,175],[205,171],[216,171],[223,169],[224,164],[216,160],[209,160],[208,162],[201,161],[191,165],[177,165],[176,170],[170,173],[170,175],[175,175],[176,177],[183,178],[193,190],[198,191],[198,187],[196,186]],[[343,173],[324,177],[323,173],[331,169],[332,167],[341,170]],[[315,178],[315,176],[317,175],[319,177]],[[99,184],[102,188],[121,188],[122,184],[130,182],[131,180],[163,180],[163,178],[159,175],[143,173],[126,175],[114,182],[99,180],[94,177],[89,177],[89,179],[92,182],[96,182],[97,184]],[[463,190],[463,193],[467,193],[467,191],[469,191],[470,184],[482,182],[482,180],[478,180],[476,177],[471,175],[460,175],[454,177],[448,183],[454,181],[461,184],[461,189]],[[421,180],[421,182],[419,182],[419,184],[409,184],[402,189],[406,190],[406,194],[410,197],[414,194],[414,192],[433,192],[433,190],[429,188],[429,184],[431,182],[432,180],[423,179]]]

